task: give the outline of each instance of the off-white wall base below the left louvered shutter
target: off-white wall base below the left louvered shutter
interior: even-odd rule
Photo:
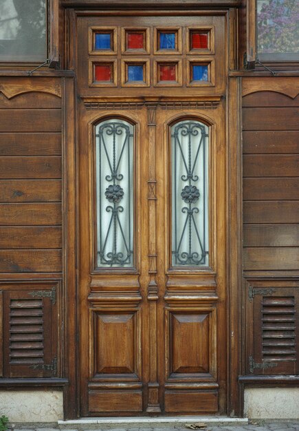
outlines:
[[[63,392],[59,390],[0,391],[0,416],[13,422],[56,422],[63,419]]]

